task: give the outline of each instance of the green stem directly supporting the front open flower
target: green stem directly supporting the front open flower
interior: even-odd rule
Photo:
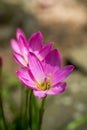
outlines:
[[[42,126],[42,120],[43,120],[43,114],[44,114],[44,105],[45,105],[46,97],[44,97],[42,99],[41,107],[40,107],[40,110],[39,110],[39,126],[38,126],[39,128],[38,128],[38,130],[41,130],[41,126]]]

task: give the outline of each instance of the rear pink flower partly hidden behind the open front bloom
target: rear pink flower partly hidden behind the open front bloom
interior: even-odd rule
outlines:
[[[34,53],[42,61],[53,46],[53,43],[43,45],[41,32],[34,33],[27,40],[24,33],[20,29],[17,29],[16,37],[17,41],[11,39],[11,46],[14,50],[14,59],[22,67],[27,67],[28,65],[28,52]]]

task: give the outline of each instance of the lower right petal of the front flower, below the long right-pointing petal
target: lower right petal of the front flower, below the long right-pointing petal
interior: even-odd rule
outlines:
[[[56,95],[64,92],[66,88],[66,83],[59,83],[58,86],[52,87],[50,90],[47,91],[48,95]]]

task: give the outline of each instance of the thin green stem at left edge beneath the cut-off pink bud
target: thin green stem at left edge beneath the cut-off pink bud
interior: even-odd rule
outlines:
[[[2,102],[2,69],[1,68],[0,68],[0,85],[1,85],[0,86],[0,112],[3,119],[5,130],[8,130],[5,115],[4,115],[4,110],[3,110],[3,102]]]

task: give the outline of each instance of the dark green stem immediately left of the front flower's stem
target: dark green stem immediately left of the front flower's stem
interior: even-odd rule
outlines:
[[[30,97],[29,97],[29,127],[30,127],[30,130],[32,130],[32,96],[33,96],[33,90],[30,91]]]

